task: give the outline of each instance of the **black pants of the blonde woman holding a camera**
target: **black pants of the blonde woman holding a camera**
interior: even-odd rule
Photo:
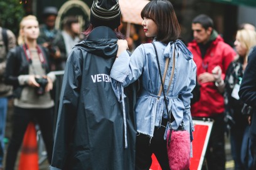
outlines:
[[[23,109],[14,107],[13,132],[7,150],[6,170],[13,170],[26,128],[30,121],[39,124],[45,142],[48,162],[53,152],[53,109]]]

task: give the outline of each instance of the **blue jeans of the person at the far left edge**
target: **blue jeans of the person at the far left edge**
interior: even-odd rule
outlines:
[[[6,125],[6,113],[8,108],[8,99],[0,98],[0,168],[3,166],[4,158],[4,131]]]

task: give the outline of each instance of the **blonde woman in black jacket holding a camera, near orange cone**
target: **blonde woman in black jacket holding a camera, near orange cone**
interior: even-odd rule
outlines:
[[[40,34],[35,16],[26,16],[20,22],[18,44],[8,53],[5,83],[13,85],[13,132],[6,156],[6,170],[13,170],[17,154],[29,122],[40,126],[51,163],[53,151],[53,106],[50,90],[55,74],[50,73],[48,51],[38,46]]]

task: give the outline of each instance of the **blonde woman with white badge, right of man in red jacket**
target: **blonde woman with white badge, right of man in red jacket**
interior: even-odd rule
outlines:
[[[223,85],[223,87],[225,87],[225,89],[223,89],[225,121],[228,130],[230,130],[231,149],[233,160],[235,161],[235,169],[249,169],[251,166],[251,156],[246,155],[248,156],[246,160],[243,154],[243,151],[247,151],[247,144],[243,143],[243,140],[248,138],[244,136],[244,134],[248,133],[248,118],[242,114],[243,102],[238,96],[238,91],[243,78],[243,72],[247,66],[248,54],[250,53],[250,49],[256,46],[256,32],[249,29],[238,30],[234,45],[237,51],[237,58],[228,66]]]

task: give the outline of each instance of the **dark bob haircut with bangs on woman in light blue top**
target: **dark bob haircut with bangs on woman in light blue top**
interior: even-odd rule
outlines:
[[[142,19],[152,19],[157,26],[156,40],[168,44],[176,41],[181,34],[181,28],[174,12],[173,5],[168,0],[150,1],[141,11]]]

